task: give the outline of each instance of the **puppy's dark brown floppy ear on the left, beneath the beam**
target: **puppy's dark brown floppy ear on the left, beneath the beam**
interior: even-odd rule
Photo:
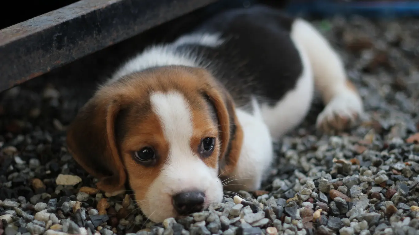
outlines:
[[[114,193],[124,190],[126,173],[114,135],[117,99],[93,97],[78,112],[67,129],[67,146],[74,159],[99,179],[97,187]]]

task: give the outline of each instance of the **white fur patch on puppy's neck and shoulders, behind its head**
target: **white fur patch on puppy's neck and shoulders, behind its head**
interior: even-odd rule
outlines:
[[[189,51],[176,51],[179,46],[197,44],[217,47],[224,42],[219,33],[191,33],[181,36],[173,43],[155,45],[145,49],[141,54],[127,61],[112,77],[108,84],[133,72],[155,66],[183,65],[197,67],[201,58]]]

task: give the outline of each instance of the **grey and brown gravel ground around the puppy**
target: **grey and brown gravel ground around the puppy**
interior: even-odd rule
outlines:
[[[263,190],[239,192],[246,200],[226,195],[209,211],[163,224],[147,221],[130,195],[108,198],[94,189],[95,179],[65,147],[65,127],[98,78],[135,46],[88,56],[3,92],[0,235],[419,234],[419,20],[315,23],[360,88],[362,125],[321,136],[311,115],[282,138],[278,167]]]

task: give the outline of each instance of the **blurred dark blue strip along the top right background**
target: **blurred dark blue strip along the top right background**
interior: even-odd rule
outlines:
[[[343,0],[291,0],[287,11],[293,14],[364,15],[367,17],[418,17],[419,1],[343,1]]]

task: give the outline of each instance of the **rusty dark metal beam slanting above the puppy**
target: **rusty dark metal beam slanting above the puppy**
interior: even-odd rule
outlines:
[[[217,0],[80,0],[0,30],[0,91]]]

